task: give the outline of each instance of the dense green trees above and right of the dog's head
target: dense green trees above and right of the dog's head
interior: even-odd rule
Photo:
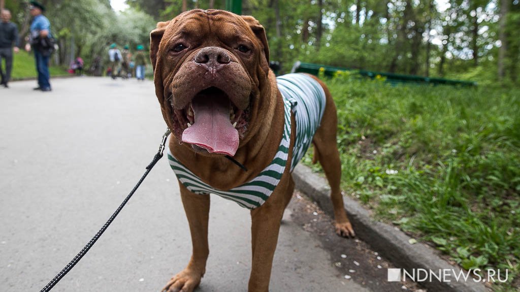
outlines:
[[[209,1],[198,0],[127,2],[156,20],[175,17],[183,3],[187,9],[209,8]],[[224,8],[224,1],[214,3]],[[264,24],[272,59],[281,61],[285,71],[303,60],[520,84],[518,0],[244,0],[243,14]]]

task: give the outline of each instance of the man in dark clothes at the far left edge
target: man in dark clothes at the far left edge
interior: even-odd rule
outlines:
[[[12,70],[12,51],[18,53],[20,50],[20,38],[16,24],[10,22],[11,12],[7,9],[0,11],[2,22],[0,22],[0,85],[9,88],[7,85],[11,78]],[[15,46],[14,48],[12,46]],[[2,60],[5,59],[5,73],[2,70]]]

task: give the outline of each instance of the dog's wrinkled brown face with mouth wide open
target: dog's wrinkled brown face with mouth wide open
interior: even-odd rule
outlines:
[[[197,9],[158,23],[150,49],[156,94],[177,140],[235,155],[267,79],[268,52],[252,17]]]

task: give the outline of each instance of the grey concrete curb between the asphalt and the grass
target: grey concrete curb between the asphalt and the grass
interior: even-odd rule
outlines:
[[[296,188],[316,201],[330,216],[333,216],[330,188],[326,179],[319,177],[310,168],[298,165],[293,171]],[[392,227],[370,218],[369,211],[352,198],[344,196],[345,209],[354,226],[356,235],[374,249],[392,261],[400,269],[430,269],[438,274],[438,270],[449,269],[459,274],[460,268],[453,266],[437,256],[436,251],[422,243],[410,244],[411,237]],[[488,289],[482,283],[472,280],[467,282],[421,282],[430,291],[452,292],[484,292]]]

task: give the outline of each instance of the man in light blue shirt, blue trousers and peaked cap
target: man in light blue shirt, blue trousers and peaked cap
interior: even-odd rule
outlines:
[[[30,43],[34,49],[34,58],[36,60],[36,71],[38,72],[38,87],[34,90],[50,91],[50,74],[49,74],[49,57],[53,48],[42,45],[52,37],[50,34],[50,22],[43,15],[45,6],[36,1],[31,1],[29,6],[31,16]],[[30,51],[31,46],[26,45],[25,50]]]

